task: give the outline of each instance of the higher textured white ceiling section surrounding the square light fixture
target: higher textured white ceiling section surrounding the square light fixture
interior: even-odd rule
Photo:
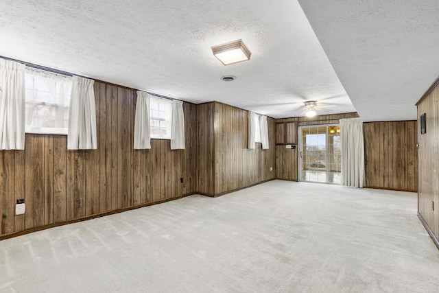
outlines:
[[[211,46],[238,38],[251,59],[225,67]],[[295,0],[2,0],[0,42],[0,56],[188,102],[270,117],[302,115],[305,100],[318,114],[355,111]]]

